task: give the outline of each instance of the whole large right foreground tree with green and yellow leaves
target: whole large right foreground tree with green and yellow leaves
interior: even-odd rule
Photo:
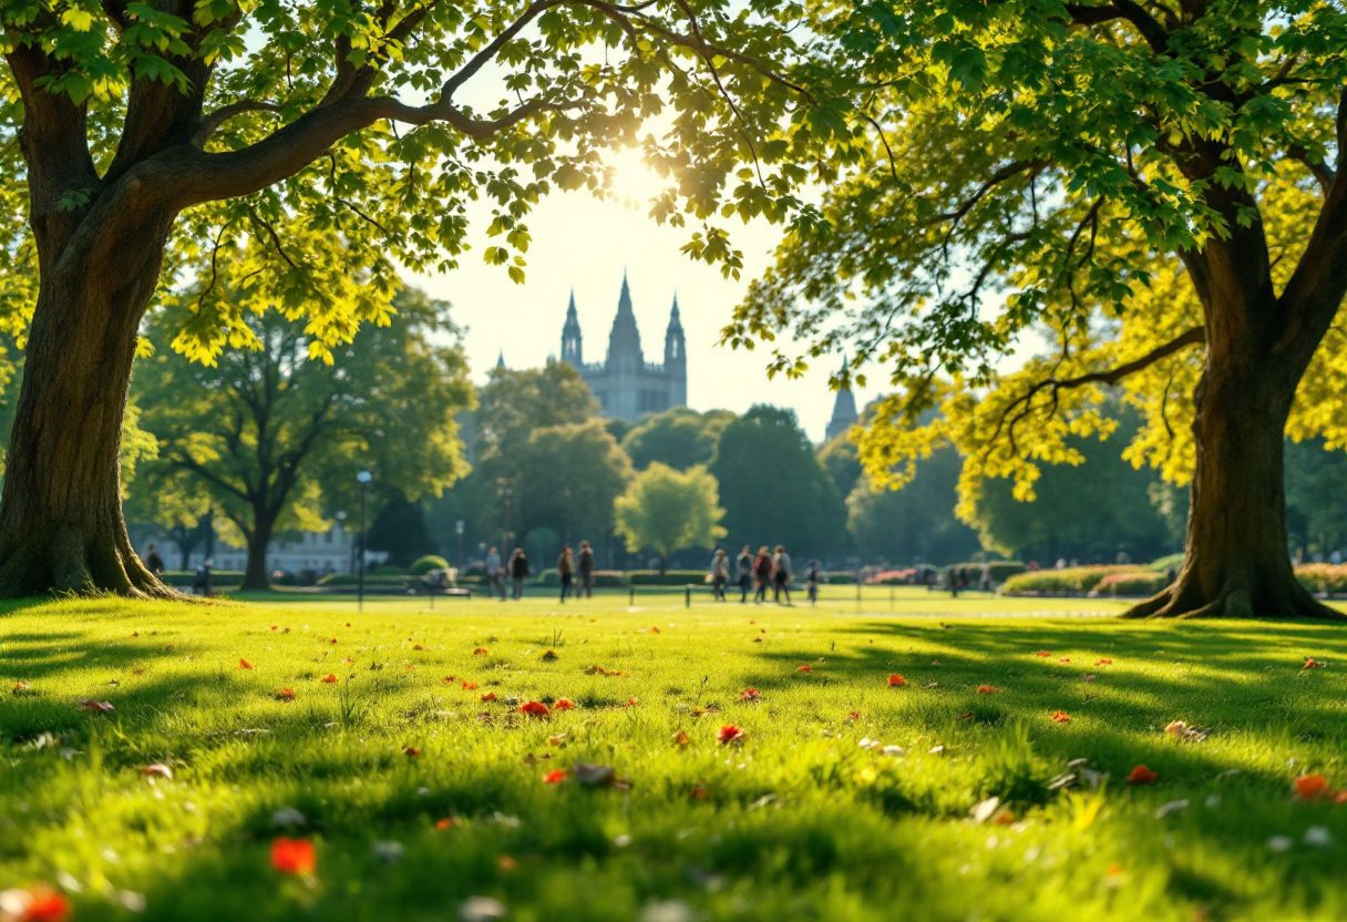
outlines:
[[[954,442],[966,484],[1021,495],[1107,434],[1121,384],[1148,415],[1129,460],[1192,481],[1179,578],[1130,613],[1340,617],[1290,570],[1282,438],[1347,434],[1347,359],[1320,349],[1347,293],[1342,4],[955,0],[807,28],[865,137],[729,340],[796,330],[788,372],[843,344],[889,363],[872,474]]]

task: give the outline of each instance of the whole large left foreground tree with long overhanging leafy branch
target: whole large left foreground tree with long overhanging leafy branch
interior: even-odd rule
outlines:
[[[470,199],[494,201],[484,257],[521,279],[531,205],[602,191],[603,151],[641,143],[660,113],[668,129],[644,142],[675,175],[655,217],[795,208],[803,168],[773,168],[752,140],[812,144],[787,111],[803,65],[770,13],[723,0],[3,4],[0,328],[27,355],[0,592],[171,594],[129,546],[117,476],[156,293],[190,293],[168,301],[195,359],[248,337],[249,303],[304,315],[310,348],[331,357],[387,319],[399,266],[455,264]],[[745,160],[757,170],[735,179]],[[690,247],[738,260],[710,226]],[[230,286],[222,253],[249,266]]]

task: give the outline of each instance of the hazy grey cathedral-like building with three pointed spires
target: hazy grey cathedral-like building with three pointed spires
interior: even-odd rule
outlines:
[[[602,407],[605,417],[634,421],[648,412],[663,412],[687,406],[687,344],[678,313],[678,295],[664,332],[664,364],[645,361],[641,334],[632,313],[632,293],[622,275],[622,293],[617,298],[617,317],[607,336],[607,357],[585,364],[585,337],[575,313],[575,294],[562,326],[562,361],[581,373]]]

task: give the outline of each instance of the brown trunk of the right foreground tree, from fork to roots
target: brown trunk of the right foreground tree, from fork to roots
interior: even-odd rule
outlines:
[[[1129,617],[1343,615],[1307,592],[1286,543],[1282,445],[1299,376],[1210,349],[1195,395],[1197,458],[1183,569]]]

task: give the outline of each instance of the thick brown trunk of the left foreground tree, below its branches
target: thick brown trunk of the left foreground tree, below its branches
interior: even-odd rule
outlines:
[[[144,221],[139,233],[124,233],[125,212],[98,218],[88,216],[59,251],[39,247],[38,305],[0,496],[4,596],[178,596],[132,550],[120,483],[136,332],[171,218]]]

